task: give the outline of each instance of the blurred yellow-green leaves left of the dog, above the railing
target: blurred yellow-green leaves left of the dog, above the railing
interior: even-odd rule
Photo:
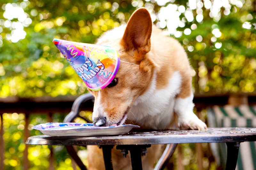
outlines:
[[[3,43],[0,47],[0,96],[54,97],[86,92],[86,86],[60,55],[52,40],[61,38],[94,43],[101,33],[120,25],[115,15],[119,5],[106,1],[35,0],[1,1],[0,6],[2,7],[0,18],[3,18],[1,19]],[[130,9],[132,7],[128,4],[126,6]],[[12,18],[10,12],[7,15],[8,8],[24,10],[22,14],[31,18],[32,23],[26,25],[26,20],[21,22],[18,16],[17,19]],[[130,13],[122,13],[123,18],[120,18],[125,21],[130,17]],[[15,42],[14,31],[21,29],[18,25],[24,29],[26,36]]]

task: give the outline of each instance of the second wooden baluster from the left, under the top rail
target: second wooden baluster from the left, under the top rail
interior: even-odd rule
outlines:
[[[28,124],[29,124],[29,114],[28,113],[25,113],[25,128],[24,128],[24,141],[26,142],[28,137],[30,136],[29,135],[29,131],[28,131]],[[25,147],[25,150],[24,150],[24,153],[23,153],[23,166],[24,166],[24,170],[28,170],[29,169],[29,162],[28,162],[28,144],[25,144],[26,147]]]

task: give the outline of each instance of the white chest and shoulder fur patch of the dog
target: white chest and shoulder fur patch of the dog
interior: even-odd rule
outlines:
[[[128,118],[152,129],[165,129],[171,122],[175,96],[180,92],[181,75],[176,71],[169,79],[168,86],[156,90],[156,75],[145,94],[138,97]]]

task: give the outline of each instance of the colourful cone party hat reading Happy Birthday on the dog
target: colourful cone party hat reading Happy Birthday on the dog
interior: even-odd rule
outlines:
[[[115,78],[120,64],[115,48],[56,38],[53,43],[90,90],[101,90]]]

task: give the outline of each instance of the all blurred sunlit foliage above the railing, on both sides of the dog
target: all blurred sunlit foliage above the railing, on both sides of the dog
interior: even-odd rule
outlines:
[[[0,96],[87,92],[84,83],[52,43],[53,38],[94,43],[103,32],[127,22],[132,12],[142,6],[149,10],[154,23],[164,29],[164,34],[176,37],[188,51],[196,92],[254,91],[256,18],[253,2],[216,0],[211,9],[205,5],[208,1],[192,2],[189,5],[185,0],[3,0],[0,3],[0,18],[3,18]],[[27,19],[7,14],[8,5],[23,8]],[[181,6],[183,10],[178,8]],[[18,42],[18,36],[13,35],[17,29],[26,32]]]

